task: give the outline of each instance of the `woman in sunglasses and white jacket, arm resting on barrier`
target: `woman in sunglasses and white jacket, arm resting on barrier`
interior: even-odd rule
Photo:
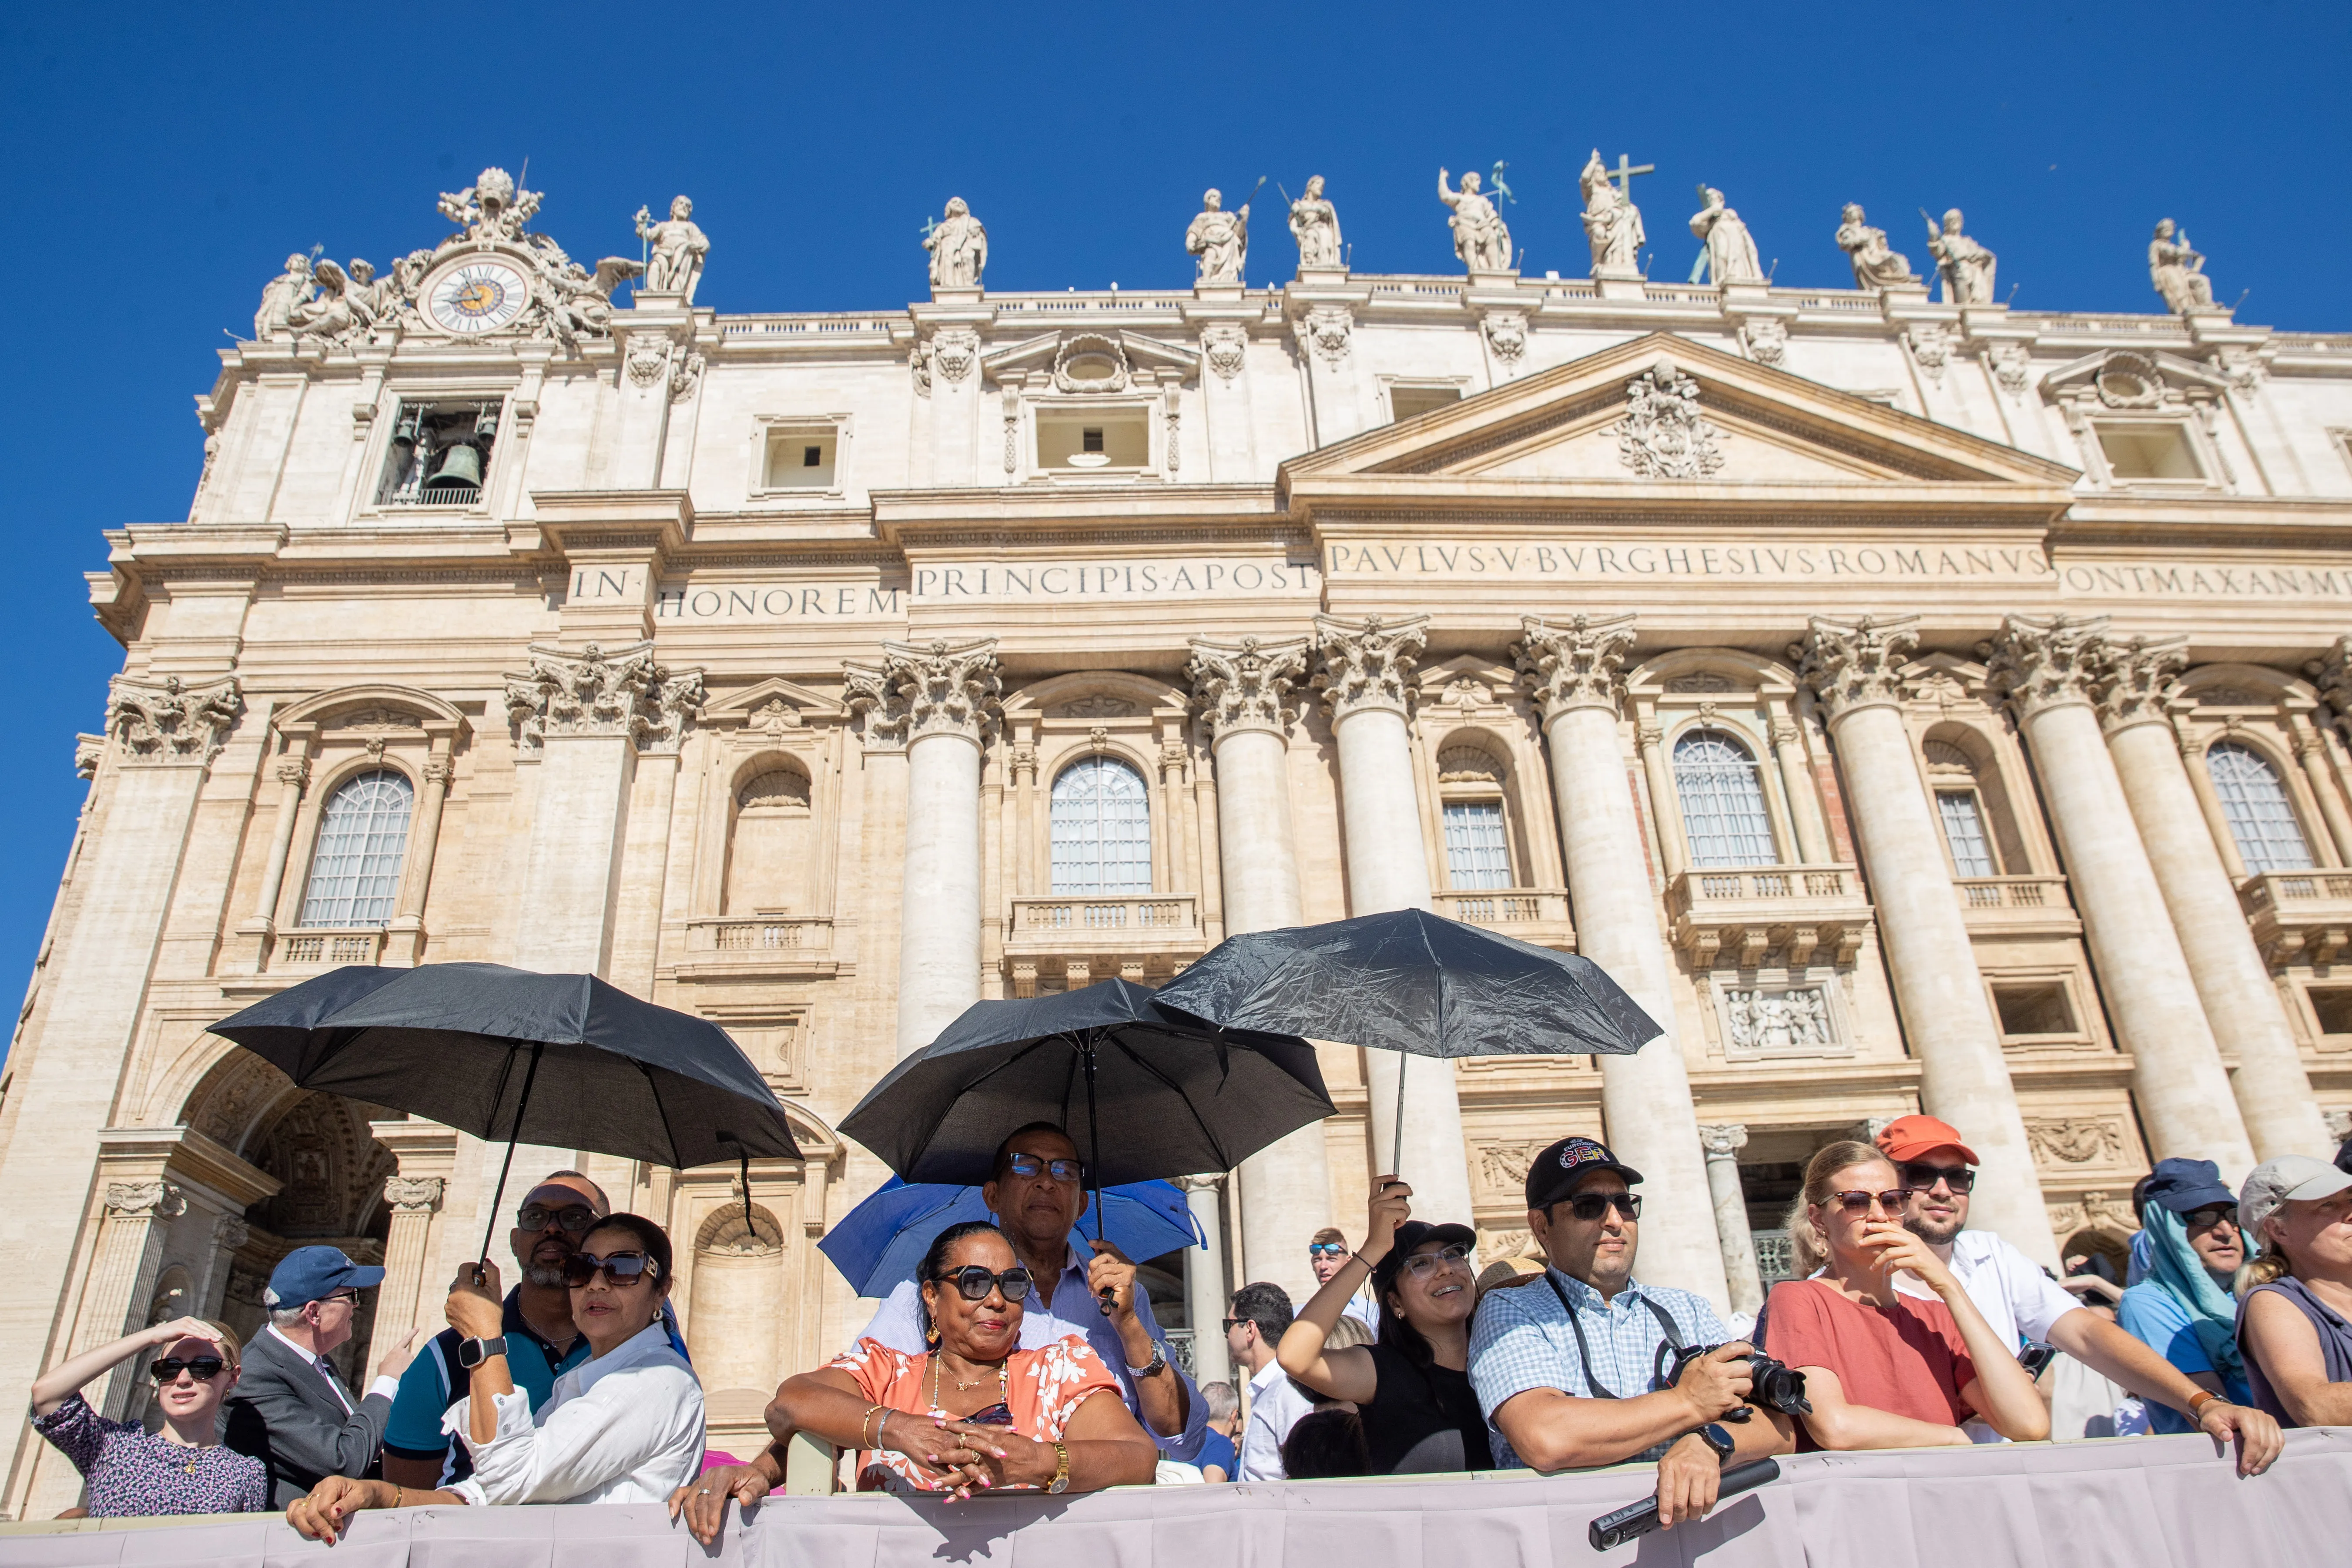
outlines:
[[[449,1324],[468,1335],[466,1399],[442,1425],[473,1453],[473,1476],[442,1490],[327,1476],[287,1509],[303,1535],[334,1542],[360,1509],[430,1502],[668,1502],[703,1462],[703,1387],[670,1345],[670,1239],[633,1213],[597,1220],[564,1260],[572,1321],[588,1361],[555,1380],[539,1413],[506,1368],[499,1272],[459,1269]]]

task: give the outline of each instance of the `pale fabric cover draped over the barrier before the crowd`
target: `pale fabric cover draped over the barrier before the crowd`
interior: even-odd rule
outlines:
[[[1802,1455],[1698,1526],[1609,1554],[1646,1469],[1089,1497],[774,1497],[706,1552],[659,1507],[360,1514],[332,1552],[278,1516],[0,1528],[5,1568],[2312,1568],[2352,1561],[2352,1427],[2291,1432],[2239,1481],[2201,1436]]]

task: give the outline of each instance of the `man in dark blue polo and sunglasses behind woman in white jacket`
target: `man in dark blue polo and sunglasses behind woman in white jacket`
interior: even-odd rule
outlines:
[[[588,1335],[572,1324],[564,1258],[607,1213],[604,1190],[579,1171],[557,1171],[539,1182],[515,1213],[508,1244],[522,1274],[506,1293],[506,1366],[515,1387],[529,1392],[534,1410],[548,1401],[555,1378],[588,1359]],[[435,1488],[473,1474],[473,1455],[442,1432],[442,1410],[466,1396],[470,1368],[463,1356],[463,1338],[445,1328],[400,1378],[393,1418],[383,1427],[386,1481]]]

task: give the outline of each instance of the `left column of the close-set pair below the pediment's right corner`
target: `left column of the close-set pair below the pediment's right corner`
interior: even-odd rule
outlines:
[[[1985,646],[1987,675],[2032,748],[2100,992],[2131,1051],[2150,1154],[2211,1159],[2234,1187],[2253,1168],[2253,1145],[2091,705],[2105,630],[2105,616],[2009,616]],[[2244,929],[2244,917],[2232,910],[2230,924]]]

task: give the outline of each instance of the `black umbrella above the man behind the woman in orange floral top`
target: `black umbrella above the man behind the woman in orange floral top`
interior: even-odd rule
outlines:
[[[842,1117],[908,1182],[995,1178],[997,1145],[1028,1121],[1087,1112],[1087,1180],[1101,1187],[1230,1171],[1331,1114],[1315,1046],[1164,1013],[1127,980],[1025,1001],[974,1001]],[[1110,1145],[1103,1147],[1103,1128]],[[1101,1232],[1101,1204],[1096,1204]]]

